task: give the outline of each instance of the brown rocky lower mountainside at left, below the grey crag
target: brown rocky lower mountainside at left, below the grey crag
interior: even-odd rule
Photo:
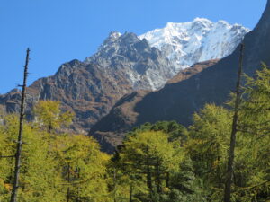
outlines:
[[[116,80],[121,85],[116,86]],[[28,87],[27,114],[31,119],[31,107],[38,100],[61,101],[65,110],[76,114],[72,129],[85,133],[115,101],[130,91],[131,86],[123,78],[112,80],[103,75],[101,66],[74,60],[60,66],[56,75],[41,78]],[[9,92],[0,96],[0,104],[8,112],[17,112],[20,98],[19,91]]]

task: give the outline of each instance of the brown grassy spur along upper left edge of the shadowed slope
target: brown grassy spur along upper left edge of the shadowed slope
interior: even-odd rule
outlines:
[[[103,150],[110,153],[113,152],[114,147],[121,144],[125,132],[131,127],[139,125],[138,118],[141,115],[135,108],[140,101],[144,101],[144,99],[148,97],[154,100],[157,98],[155,101],[150,100],[151,103],[149,103],[149,105],[151,105],[156,104],[157,101],[162,99],[167,99],[167,96],[173,96],[174,91],[177,91],[177,89],[174,89],[177,83],[181,81],[184,82],[193,75],[199,75],[203,69],[216,64],[218,61],[219,60],[206,61],[184,69],[169,80],[164,89],[158,92],[138,91],[123,96],[121,100],[113,106],[111,112],[92,127],[90,134],[103,145]],[[165,92],[166,95],[162,95],[163,97],[160,98],[160,92]],[[157,97],[155,97],[156,95]],[[148,108],[148,106],[146,107]],[[142,122],[143,121],[144,120],[142,120]]]

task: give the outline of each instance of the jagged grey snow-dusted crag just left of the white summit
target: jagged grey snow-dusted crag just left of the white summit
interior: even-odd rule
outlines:
[[[98,52],[86,63],[103,66],[104,74],[121,74],[134,90],[158,89],[174,74],[172,64],[157,48],[151,48],[147,40],[139,40],[134,33],[121,35],[112,32]]]

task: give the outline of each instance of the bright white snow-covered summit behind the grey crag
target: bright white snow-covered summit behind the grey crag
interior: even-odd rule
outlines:
[[[148,31],[139,38],[162,50],[175,65],[175,72],[194,63],[228,56],[249,30],[226,21],[167,22],[166,27]]]

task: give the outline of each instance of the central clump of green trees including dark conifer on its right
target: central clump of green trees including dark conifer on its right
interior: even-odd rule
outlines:
[[[201,198],[196,189],[192,162],[184,153],[181,138],[171,138],[164,133],[174,134],[175,129],[178,135],[183,134],[179,130],[183,131],[184,127],[178,124],[173,127],[174,124],[145,124],[130,133],[120,152],[112,158],[114,190],[132,186],[132,201],[181,201],[181,198],[194,201]],[[157,131],[153,130],[155,127]],[[125,196],[128,201],[129,189]]]

